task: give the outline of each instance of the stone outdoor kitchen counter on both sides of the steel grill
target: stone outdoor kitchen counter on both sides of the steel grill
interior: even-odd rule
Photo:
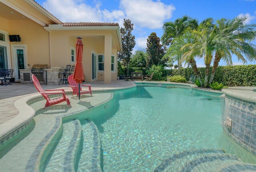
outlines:
[[[47,83],[47,85],[58,85],[60,82],[60,76],[59,76],[60,69],[63,69],[63,68],[52,67],[50,69],[44,69],[44,81],[40,81],[40,83],[41,84]],[[47,82],[46,82],[46,78],[47,78]],[[31,69],[20,69],[20,83],[33,83]]]

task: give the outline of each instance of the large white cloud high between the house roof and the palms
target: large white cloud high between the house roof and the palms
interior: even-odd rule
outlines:
[[[164,20],[170,19],[175,10],[173,5],[166,5],[160,0],[121,0],[120,8],[134,25],[150,29],[162,28]]]

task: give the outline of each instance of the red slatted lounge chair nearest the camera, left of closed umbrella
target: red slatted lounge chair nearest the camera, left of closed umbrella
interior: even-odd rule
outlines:
[[[68,97],[66,96],[66,93],[64,89],[42,89],[38,79],[34,74],[32,74],[32,80],[34,83],[34,86],[36,87],[37,91],[46,99],[45,107],[49,107],[51,105],[56,105],[58,103],[61,103],[63,101],[66,101],[68,106],[70,106],[70,101]],[[48,95],[54,95],[54,94],[62,94],[62,97],[58,97],[55,99],[50,99]]]

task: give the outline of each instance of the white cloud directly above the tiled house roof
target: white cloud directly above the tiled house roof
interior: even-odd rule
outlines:
[[[46,0],[43,6],[62,22],[115,22],[122,26],[124,12],[101,10],[99,1],[94,4],[89,6],[82,0]]]

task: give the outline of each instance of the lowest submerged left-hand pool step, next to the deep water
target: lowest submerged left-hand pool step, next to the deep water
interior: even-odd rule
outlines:
[[[82,125],[83,149],[78,164],[78,172],[102,172],[100,167],[100,137],[97,126],[86,119]]]

